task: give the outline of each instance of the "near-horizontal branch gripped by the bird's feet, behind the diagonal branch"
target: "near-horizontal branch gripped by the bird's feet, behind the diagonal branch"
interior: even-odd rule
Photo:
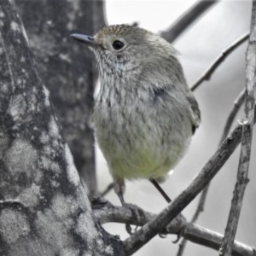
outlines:
[[[143,209],[138,207],[138,211],[143,212],[143,216],[138,218],[138,215],[134,216],[134,212],[126,207],[114,207],[109,202],[105,202],[104,206],[94,210],[94,214],[101,224],[114,222],[135,224],[143,226],[152,220],[156,214],[151,212],[144,212]],[[183,230],[182,236],[193,241],[197,244],[210,247],[218,250],[223,236],[212,230],[207,230],[196,224],[189,224],[186,220],[179,215],[178,218],[174,218],[171,224],[167,224],[164,232],[166,234],[179,234],[180,230]],[[162,231],[163,232],[163,231]],[[255,250],[253,247],[248,247],[239,241],[235,241],[233,253],[236,256],[255,256]]]

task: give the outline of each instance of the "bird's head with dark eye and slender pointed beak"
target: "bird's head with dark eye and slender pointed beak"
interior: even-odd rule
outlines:
[[[137,26],[106,26],[94,36],[72,34],[71,37],[87,44],[101,69],[108,73],[128,72],[175,55],[175,49],[166,40]]]

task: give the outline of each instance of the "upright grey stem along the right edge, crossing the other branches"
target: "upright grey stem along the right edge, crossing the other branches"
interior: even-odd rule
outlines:
[[[245,90],[245,119],[242,121],[241,152],[237,172],[237,180],[224,240],[219,248],[219,255],[231,256],[236,236],[237,225],[241,212],[243,196],[248,183],[248,170],[250,165],[251,147],[253,139],[253,119],[256,89],[256,1],[253,1],[251,32],[246,55],[246,90]]]

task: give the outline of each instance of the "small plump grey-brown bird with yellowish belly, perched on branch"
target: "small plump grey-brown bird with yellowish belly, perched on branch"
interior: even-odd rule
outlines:
[[[159,35],[113,25],[94,36],[71,37],[96,55],[96,140],[124,203],[124,179],[163,180],[182,159],[200,124],[200,109],[176,50]]]

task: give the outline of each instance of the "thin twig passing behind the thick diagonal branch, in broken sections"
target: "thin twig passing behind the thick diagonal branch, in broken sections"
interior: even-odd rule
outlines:
[[[234,107],[230,111],[229,117],[228,117],[228,119],[226,121],[226,124],[224,126],[223,135],[220,139],[220,144],[223,143],[224,139],[228,136],[228,134],[230,132],[231,125],[233,124],[234,119],[236,117],[236,114],[239,111],[239,109],[241,108],[242,102],[244,101],[244,96],[245,96],[245,90],[243,89],[243,90],[241,90],[241,93],[239,94],[239,96],[236,97],[236,100],[234,102]],[[210,184],[208,184],[207,187],[205,189],[203,189],[203,191],[201,192],[200,200],[198,202],[198,206],[196,208],[195,214],[191,219],[191,223],[195,223],[197,221],[197,219],[199,218],[200,213],[204,211],[209,185]],[[179,244],[179,248],[178,248],[178,251],[177,251],[177,256],[182,256],[183,255],[183,251],[184,251],[184,248],[186,246],[186,243],[187,243],[187,241],[183,238],[183,240]]]

